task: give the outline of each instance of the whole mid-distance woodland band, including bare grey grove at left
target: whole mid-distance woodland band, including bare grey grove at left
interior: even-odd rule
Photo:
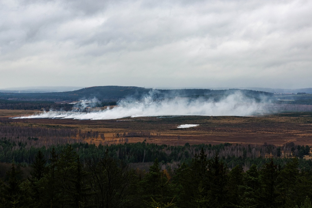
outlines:
[[[219,156],[231,162],[231,158],[241,158],[241,162],[234,162],[243,166],[246,160],[257,158],[303,158],[310,153],[309,146],[295,145],[295,143],[286,143],[283,146],[275,146],[264,143],[263,145],[238,145],[224,143],[219,145],[195,144],[184,146],[157,145],[149,143],[128,143],[131,137],[150,138],[150,132],[124,132],[116,133],[115,141],[119,139],[119,144],[108,145],[105,141],[104,133],[98,131],[81,131],[76,128],[44,128],[30,126],[12,126],[5,124],[10,120],[2,119],[0,125],[0,161],[31,163],[36,152],[41,149],[46,155],[55,147],[58,152],[63,145],[72,144],[83,161],[89,158],[89,155],[103,155],[108,149],[111,157],[116,157],[125,162],[152,162],[156,157],[164,162],[180,162],[188,160],[198,154],[203,149],[208,158],[212,158],[218,152]],[[100,141],[99,146],[88,144],[88,140]],[[59,147],[58,147],[59,146]],[[23,157],[21,157],[23,156]],[[20,158],[23,158],[22,160]],[[250,161],[247,161],[250,163]],[[234,164],[232,162],[232,166]],[[248,165],[247,165],[248,166]]]

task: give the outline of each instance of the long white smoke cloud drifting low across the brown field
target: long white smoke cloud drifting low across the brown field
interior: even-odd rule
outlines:
[[[204,115],[204,116],[248,116],[261,113],[262,107],[255,100],[246,98],[240,92],[230,94],[215,102],[203,98],[153,99],[152,93],[143,99],[121,100],[115,108],[94,112],[44,112],[19,118],[63,118],[63,119],[119,119],[124,117],[164,116],[164,115]]]

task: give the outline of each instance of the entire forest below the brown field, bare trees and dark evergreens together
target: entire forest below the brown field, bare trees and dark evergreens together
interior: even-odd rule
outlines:
[[[91,130],[18,127],[7,120],[0,133],[0,207],[311,205],[310,147],[292,142],[106,145],[105,135]],[[126,136],[119,137],[126,142]]]

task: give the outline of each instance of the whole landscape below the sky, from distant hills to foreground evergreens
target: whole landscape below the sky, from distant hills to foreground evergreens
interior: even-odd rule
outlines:
[[[264,192],[261,192],[258,199],[256,196],[248,196],[249,201],[245,201],[245,205],[270,207],[284,203],[287,204],[286,207],[294,207],[296,203],[308,203],[305,199],[306,191],[299,191],[295,196],[289,195],[286,202],[279,197],[284,193],[281,192],[285,187],[282,183],[286,177],[284,172],[295,171],[289,167],[290,164],[292,168],[308,172],[312,169],[310,96],[305,92],[285,94],[246,89],[158,90],[123,86],[51,93],[2,92],[0,174],[3,178],[1,187],[7,191],[2,192],[1,196],[11,200],[9,203],[4,200],[2,205],[16,203],[22,207],[33,203],[44,207],[61,207],[64,204],[68,207],[84,207],[86,204],[91,207],[137,207],[144,204],[150,207],[232,207],[234,203],[241,204],[247,197],[245,188],[249,187],[249,179],[246,177],[250,177],[249,174],[254,174],[251,171],[257,169],[260,181],[259,187],[255,187],[254,191],[262,187]],[[75,157],[80,158],[78,163],[74,162]],[[70,161],[76,165],[81,163],[89,176],[80,176],[79,174],[85,173],[80,173],[77,169],[79,165],[68,166]],[[199,166],[196,167],[196,164]],[[195,187],[202,186],[203,180],[211,180],[205,182],[207,189],[212,191],[214,187],[222,187],[225,192],[218,193],[216,189],[213,192],[199,192],[203,195],[197,195],[196,188],[181,181],[193,178],[187,174],[198,174],[198,168],[202,165],[209,168],[201,170],[208,175],[195,178]],[[282,169],[277,168],[277,165]],[[53,169],[54,166],[56,169]],[[61,168],[70,168],[70,172],[62,172]],[[114,176],[114,172],[102,172],[98,168],[119,168],[114,171],[121,175]],[[220,168],[223,173],[218,173],[218,177],[223,174],[223,185],[213,185],[216,183],[216,179],[213,179],[215,176],[209,174]],[[53,170],[60,178],[53,179]],[[191,172],[186,172],[187,170]],[[261,179],[268,171],[276,174],[272,180],[278,184],[274,185],[273,194],[276,198],[271,200],[267,200],[268,192],[265,191],[270,186],[265,185],[267,180]],[[29,172],[32,178],[23,179],[23,175]],[[16,177],[16,174],[19,176]],[[114,187],[105,186],[105,190],[111,189],[113,193],[106,195],[104,190],[98,192],[105,179],[92,180],[101,174],[112,177],[108,181]],[[233,174],[240,174],[242,181],[231,182],[234,180]],[[62,180],[66,180],[66,186],[73,186],[77,181],[71,182],[69,177],[78,176],[82,177],[81,180],[90,180],[90,183],[80,181],[83,189],[61,185]],[[141,182],[136,181],[138,176],[143,178]],[[309,180],[307,177],[310,174],[296,176],[297,179],[292,183],[308,188],[309,184],[297,181],[303,178]],[[154,180],[158,182],[151,183]],[[6,181],[9,182],[8,185]],[[27,185],[29,192],[22,190],[27,181],[30,182]],[[159,184],[164,182],[170,182],[170,185]],[[49,183],[58,184],[53,186],[51,193],[46,189]],[[10,184],[16,184],[16,188],[12,189]],[[149,187],[148,184],[152,186]],[[243,184],[244,189],[238,188]],[[124,186],[126,189],[121,189]],[[138,186],[143,192],[146,189],[149,191],[147,194],[140,191],[134,193],[131,191],[133,186]],[[179,186],[182,190],[191,190],[193,194],[176,192]],[[233,187],[236,188],[232,190]],[[41,198],[43,195],[32,192],[32,189],[41,190],[46,197]],[[62,190],[69,192],[63,196],[58,195]],[[88,193],[93,193],[92,190],[97,194],[89,196]],[[152,193],[152,190],[156,192]],[[10,195],[10,191],[15,195]],[[221,198],[214,198],[216,193]],[[241,195],[236,202],[224,198],[234,197],[238,193]],[[78,198],[75,198],[75,194],[78,194]],[[182,198],[176,199],[184,195],[192,196],[191,201],[197,202],[189,204]],[[116,196],[121,198],[111,200],[110,197]],[[203,200],[206,196],[212,198]],[[32,201],[36,198],[39,202]],[[55,201],[55,198],[61,201]],[[141,203],[142,199],[146,202]],[[199,199],[202,201],[198,201]],[[107,206],[103,204],[103,200],[108,203]]]

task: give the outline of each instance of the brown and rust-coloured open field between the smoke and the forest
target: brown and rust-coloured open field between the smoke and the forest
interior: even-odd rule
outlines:
[[[0,110],[0,118],[34,114],[36,111]],[[199,124],[192,128],[177,128],[180,124]],[[124,143],[116,137],[128,132],[150,132],[148,137],[128,137],[128,142],[184,145],[185,143],[248,143],[283,145],[294,142],[312,145],[312,113],[280,113],[252,117],[238,116],[163,116],[123,118],[112,120],[72,119],[10,119],[9,125],[39,126],[47,128],[77,128],[82,132],[104,133],[105,141],[92,143]],[[90,139],[87,140],[90,142]]]

